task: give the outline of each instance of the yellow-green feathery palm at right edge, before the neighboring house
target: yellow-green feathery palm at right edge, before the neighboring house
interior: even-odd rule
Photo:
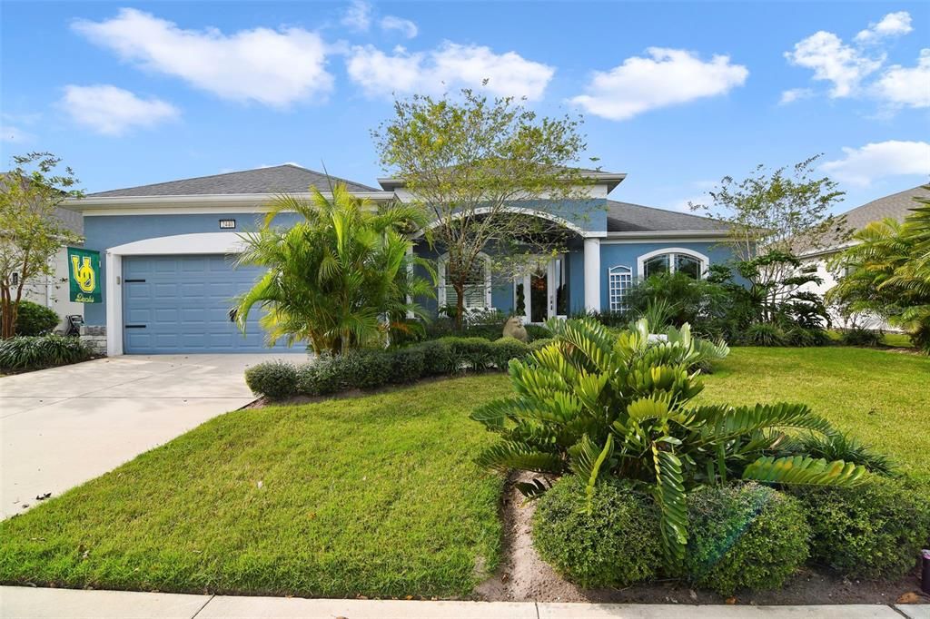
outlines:
[[[914,200],[918,205],[903,222],[873,221],[853,235],[857,244],[832,261],[845,275],[827,296],[905,328],[930,352],[930,200]]]

